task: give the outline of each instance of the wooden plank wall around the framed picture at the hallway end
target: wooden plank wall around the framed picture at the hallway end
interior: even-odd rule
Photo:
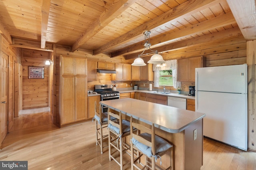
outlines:
[[[50,56],[48,51],[22,50],[22,109],[48,107],[49,66],[45,65]],[[44,67],[44,79],[28,79],[28,66]]]

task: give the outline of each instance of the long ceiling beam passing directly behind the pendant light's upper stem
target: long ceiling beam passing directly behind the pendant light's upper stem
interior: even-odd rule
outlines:
[[[151,48],[154,48],[154,45],[160,45],[161,43],[170,42],[176,39],[184,38],[189,35],[194,35],[202,32],[206,32],[208,30],[213,30],[216,28],[220,28],[223,26],[228,26],[231,24],[235,24],[236,20],[234,19],[231,12],[227,14],[222,14],[220,16],[217,16],[215,18],[212,18],[210,20],[206,20],[197,24],[194,24],[192,26],[186,27],[184,29],[178,30],[176,32],[162,35],[157,38],[150,39],[150,43],[153,44]],[[127,55],[129,53],[132,53],[133,51],[143,51],[144,46],[142,45],[144,42],[139,42],[133,45],[130,45],[123,49],[122,51],[117,51],[114,53],[111,53],[111,57],[116,57],[119,55]]]

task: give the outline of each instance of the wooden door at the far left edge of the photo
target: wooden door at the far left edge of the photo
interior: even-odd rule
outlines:
[[[7,134],[7,121],[8,121],[8,55],[4,52],[1,53],[1,107],[0,107],[0,119],[1,119],[1,143]]]

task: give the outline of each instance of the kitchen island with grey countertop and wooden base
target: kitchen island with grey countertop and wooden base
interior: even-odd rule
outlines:
[[[121,111],[128,120],[132,115],[148,127],[154,123],[156,134],[174,145],[172,166],[176,170],[200,170],[205,114],[131,98],[100,101],[100,104]],[[168,154],[162,158],[162,162],[162,166],[168,166]]]

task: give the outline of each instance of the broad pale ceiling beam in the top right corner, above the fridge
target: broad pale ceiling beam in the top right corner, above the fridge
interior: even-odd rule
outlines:
[[[236,22],[247,41],[256,40],[255,0],[227,0]]]

